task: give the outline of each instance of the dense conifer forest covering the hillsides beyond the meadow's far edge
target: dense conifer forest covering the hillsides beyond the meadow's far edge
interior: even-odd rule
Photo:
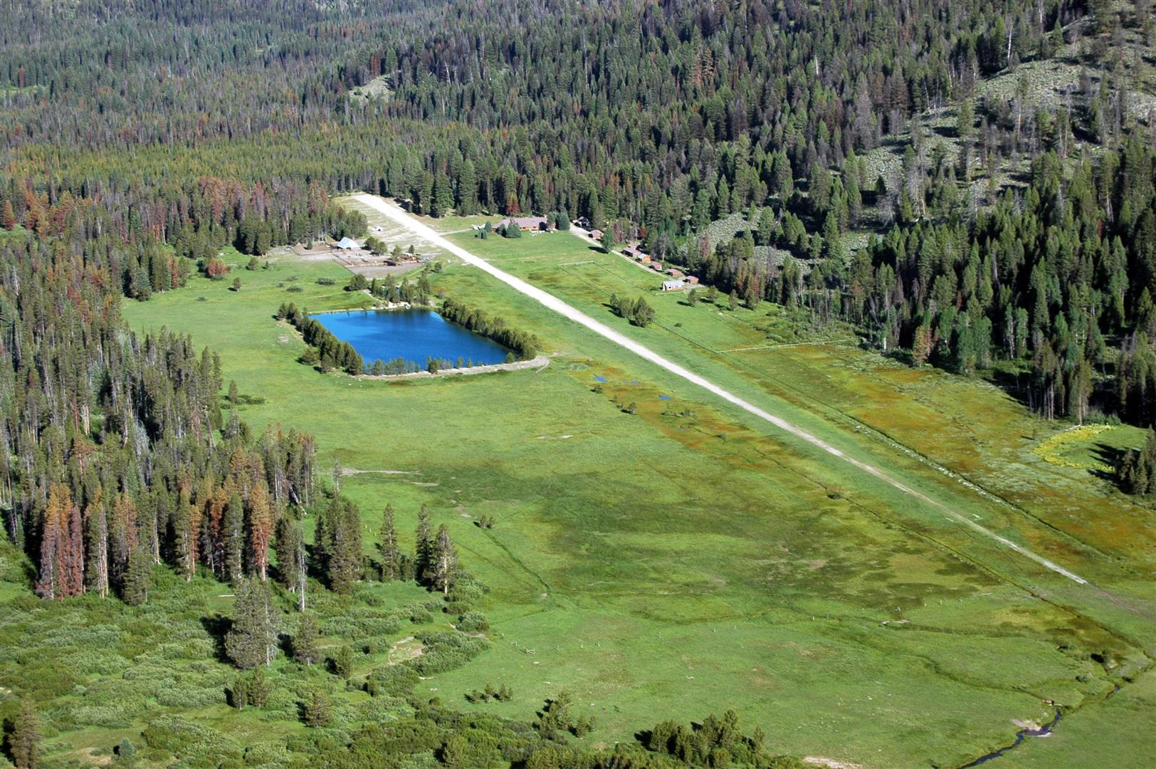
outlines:
[[[1129,108],[1121,43],[1149,34],[1146,2],[397,9],[246,3],[230,21],[163,2],[74,29],[82,45],[47,30],[97,5],[9,15],[8,223],[126,239],[117,269],[142,298],[179,284],[172,256],[360,231],[332,191],[566,210],[916,363],[1014,370],[1044,416],[1150,421],[1153,121]],[[1064,45],[1082,74],[1062,109],[981,88]],[[955,108],[949,157],[920,116]],[[902,153],[888,173],[865,162],[881,146]],[[735,214],[741,237],[712,243]]]

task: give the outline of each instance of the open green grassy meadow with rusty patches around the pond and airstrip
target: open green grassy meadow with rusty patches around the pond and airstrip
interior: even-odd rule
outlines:
[[[1073,709],[1053,739],[1068,732],[1080,747],[1029,745],[1023,766],[1088,766],[1110,707],[1150,720],[1150,675],[1129,685],[1120,672],[1134,675],[1156,645],[1153,515],[1032,454],[1054,428],[994,389],[894,365],[853,340],[783,347],[803,332],[770,305],[732,312],[647,294],[658,323],[630,327],[605,306],[609,294],[647,293],[660,278],[564,232],[453,237],[1096,587],[748,423],[470,267],[451,264],[435,288],[533,330],[549,367],[415,382],[317,374],[296,362],[302,342],[274,320],[277,305],[368,300],[341,290],[343,268],[287,257],[237,273],[240,293],[195,278],[126,306],[136,328],[168,325],[218,349],[225,378],[265,399],[242,409],[254,427],[311,431],[323,466],[369,471],[343,487],[365,513],[366,545],[386,502],[407,539],[422,503],[450,527],[490,587],[481,608],[495,643],[424,681],[431,696],[528,719],[568,689],[601,744],[734,707],[777,752],[870,767],[965,763],[1010,742],[1013,719],[1048,719],[1046,701]],[[403,472],[373,472],[386,469]],[[483,512],[494,528],[474,525]],[[487,682],[514,698],[468,704]],[[1113,766],[1144,766],[1151,730],[1121,729],[1117,747]]]

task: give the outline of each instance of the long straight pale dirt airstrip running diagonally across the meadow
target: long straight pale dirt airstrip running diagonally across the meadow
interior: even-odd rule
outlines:
[[[432,245],[436,245],[438,247],[445,249],[446,251],[449,251],[453,256],[458,257],[459,259],[461,259],[466,264],[473,265],[473,266],[477,267],[479,269],[481,269],[482,272],[486,272],[486,273],[489,273],[490,275],[494,275],[499,281],[502,281],[503,283],[510,286],[511,288],[513,288],[513,289],[516,289],[516,290],[525,294],[526,296],[531,297],[532,300],[534,300],[536,302],[540,302],[541,304],[543,304],[544,306],[549,308],[550,310],[554,310],[558,315],[561,315],[561,316],[563,316],[565,318],[569,318],[569,319],[573,320],[575,323],[585,326],[586,328],[590,328],[594,333],[596,333],[596,334],[599,334],[601,337],[605,337],[606,339],[609,339],[615,345],[618,345],[620,347],[630,350],[631,353],[633,353],[638,357],[645,358],[645,360],[650,361],[651,363],[653,363],[655,365],[660,365],[664,369],[666,369],[667,371],[669,371],[670,374],[674,374],[676,376],[682,377],[687,382],[689,382],[689,383],[691,383],[691,384],[694,384],[694,385],[696,385],[698,387],[702,387],[703,390],[706,390],[707,392],[710,392],[710,393],[712,393],[712,394],[721,398],[722,400],[726,400],[727,402],[731,402],[731,404],[738,406],[739,408],[743,409],[744,412],[747,412],[749,414],[753,414],[753,415],[757,416],[758,419],[761,419],[761,420],[763,420],[765,422],[770,422],[772,426],[775,426],[776,428],[783,430],[784,432],[790,432],[791,435],[795,436],[796,438],[801,438],[801,439],[806,441],[807,443],[810,443],[810,444],[813,444],[813,445],[822,449],[827,453],[829,453],[831,456],[835,456],[835,457],[838,457],[839,459],[846,461],[847,464],[853,465],[854,467],[858,467],[862,472],[877,478],[879,480],[883,481],[884,483],[890,485],[891,487],[898,489],[899,491],[903,491],[904,494],[911,496],[912,498],[919,500],[920,502],[922,502],[922,503],[925,503],[927,505],[931,505],[932,508],[934,508],[936,510],[942,511],[951,520],[954,520],[954,522],[956,522],[956,523],[958,523],[958,524],[961,524],[963,526],[966,526],[968,528],[971,528],[972,531],[976,531],[976,532],[983,534],[984,537],[987,537],[987,538],[990,538],[990,539],[999,542],[1003,547],[1007,547],[1008,549],[1010,549],[1010,550],[1013,550],[1013,552],[1022,555],[1023,557],[1030,559],[1031,561],[1035,561],[1036,563],[1038,563],[1038,564],[1040,564],[1040,565],[1043,565],[1043,567],[1045,567],[1047,569],[1051,569],[1052,571],[1054,571],[1057,574],[1060,574],[1060,575],[1067,577],[1068,579],[1072,579],[1073,582],[1077,582],[1081,585],[1088,584],[1087,579],[1084,579],[1084,578],[1082,578],[1082,577],[1080,577],[1080,576],[1077,576],[1077,575],[1068,571],[1064,567],[1061,567],[1061,565],[1059,565],[1057,563],[1053,563],[1052,561],[1048,561],[1047,559],[1043,557],[1042,555],[1038,555],[1038,554],[1029,550],[1028,548],[1023,547],[1022,545],[1017,545],[1016,542],[1013,542],[1011,540],[1007,539],[1006,537],[1000,537],[995,532],[993,532],[993,531],[991,531],[988,528],[985,528],[984,526],[980,526],[979,524],[977,524],[976,522],[971,520],[970,518],[966,518],[965,516],[956,512],[955,510],[949,509],[947,505],[944,505],[944,504],[942,504],[940,502],[936,502],[935,500],[932,500],[931,497],[928,497],[924,493],[918,491],[918,490],[916,490],[916,489],[913,489],[913,488],[911,488],[911,487],[909,487],[909,486],[906,486],[906,485],[904,485],[904,483],[895,480],[894,478],[891,478],[890,475],[888,475],[883,471],[879,469],[877,467],[875,467],[873,465],[868,465],[867,463],[861,461],[859,459],[855,459],[854,457],[849,457],[842,450],[839,450],[839,449],[830,445],[825,441],[822,441],[821,438],[812,435],[810,432],[807,432],[806,430],[800,429],[800,428],[795,427],[794,424],[791,424],[786,420],[784,420],[784,419],[781,419],[779,416],[776,416],[775,414],[771,414],[771,413],[769,413],[769,412],[759,408],[758,406],[755,406],[754,404],[751,404],[751,402],[749,402],[747,400],[743,400],[742,398],[739,398],[734,393],[732,393],[732,392],[729,392],[727,390],[724,390],[719,385],[714,384],[713,382],[710,382],[709,379],[706,379],[704,377],[701,377],[699,375],[695,374],[694,371],[690,371],[690,370],[688,370],[688,369],[679,365],[677,363],[674,363],[673,361],[668,361],[667,358],[662,357],[661,355],[659,355],[654,350],[650,349],[649,347],[645,347],[644,345],[639,345],[638,342],[636,342],[635,340],[630,339],[629,337],[627,337],[627,335],[624,335],[622,333],[618,333],[617,331],[610,328],[609,326],[607,326],[607,325],[605,325],[602,323],[599,323],[594,318],[591,318],[585,312],[581,312],[580,310],[577,310],[576,308],[570,306],[569,304],[566,304],[565,302],[563,302],[558,297],[554,296],[553,294],[547,294],[546,291],[543,291],[542,289],[538,288],[536,286],[532,286],[531,283],[527,283],[526,281],[521,280],[520,278],[516,278],[514,275],[511,275],[510,273],[507,273],[507,272],[505,272],[503,269],[498,269],[497,267],[495,267],[490,263],[486,261],[481,257],[477,257],[477,256],[470,253],[469,251],[466,251],[461,246],[451,243],[450,241],[447,241],[445,237],[443,237],[442,235],[439,235],[437,231],[435,231],[428,224],[424,224],[424,223],[420,222],[418,220],[414,219],[413,216],[410,216],[400,206],[397,206],[397,205],[394,205],[392,202],[387,202],[386,200],[384,200],[381,198],[378,198],[376,195],[358,194],[358,195],[354,195],[354,198],[358,202],[364,204],[365,206],[369,206],[373,210],[380,212],[385,216],[390,217],[392,221],[397,222],[398,224],[401,224],[402,227],[405,227],[406,229],[408,229],[410,232],[413,232],[414,235],[423,238],[428,243],[430,243]]]

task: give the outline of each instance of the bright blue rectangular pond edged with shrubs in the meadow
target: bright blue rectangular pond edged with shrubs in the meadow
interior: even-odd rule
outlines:
[[[433,357],[474,365],[504,363],[510,353],[497,342],[449,323],[433,310],[350,310],[314,316],[333,335],[354,346],[366,363],[398,357],[425,364]]]

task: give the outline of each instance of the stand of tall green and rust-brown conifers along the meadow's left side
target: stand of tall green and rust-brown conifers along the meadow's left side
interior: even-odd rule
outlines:
[[[141,602],[161,562],[264,579],[277,520],[316,494],[312,437],[224,420],[216,355],[127,331],[106,271],[60,250],[5,257],[0,508],[36,592]]]

